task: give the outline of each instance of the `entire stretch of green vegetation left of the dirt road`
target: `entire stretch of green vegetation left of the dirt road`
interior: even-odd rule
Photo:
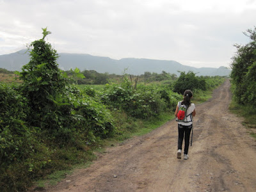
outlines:
[[[25,191],[36,180],[38,188],[54,184],[68,170],[88,166],[95,152],[174,118],[184,90],[192,90],[198,103],[225,81],[193,72],[63,72],[44,40],[50,33],[43,29],[43,38],[31,43],[31,60],[15,72],[19,83],[0,83],[0,191]]]

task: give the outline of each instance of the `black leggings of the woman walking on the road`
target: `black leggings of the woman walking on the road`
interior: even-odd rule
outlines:
[[[189,137],[190,137],[191,128],[192,128],[192,125],[185,126],[185,125],[178,124],[178,130],[179,130],[178,149],[182,150],[182,142],[185,134],[184,154],[188,154]]]

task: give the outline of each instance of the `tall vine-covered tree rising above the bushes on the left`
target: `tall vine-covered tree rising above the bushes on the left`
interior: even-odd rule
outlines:
[[[44,38],[49,31],[44,29]],[[54,102],[65,103],[63,93],[67,92],[67,80],[62,76],[56,60],[58,54],[44,38],[31,43],[31,60],[22,67],[22,92],[31,106],[28,122],[43,129],[57,129],[58,113],[63,115],[60,106]]]

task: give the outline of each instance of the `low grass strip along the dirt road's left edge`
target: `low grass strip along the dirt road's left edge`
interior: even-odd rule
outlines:
[[[214,89],[212,88],[212,90],[206,92],[196,92],[192,102],[195,102],[195,104],[205,102],[212,97],[213,90]],[[161,125],[165,124],[166,122],[172,120],[175,117],[173,111],[168,113],[161,113],[161,115],[147,120],[128,118],[126,115],[120,113],[116,113],[116,115],[118,115],[118,133],[114,138],[101,140],[97,143],[97,145],[90,148],[90,150],[92,150],[92,153],[90,154],[94,154],[95,156],[95,158],[92,159],[97,158],[95,154],[104,153],[107,147],[113,147],[129,138],[147,134],[148,132],[157,129],[157,127],[160,127]],[[72,166],[69,170],[54,172],[51,175],[45,177],[45,179],[38,180],[35,184],[36,189],[40,190],[45,188],[46,186],[56,185],[58,182],[60,182],[60,180],[65,179],[67,175],[72,174],[77,168],[86,168],[92,163],[93,161],[86,161],[81,164],[76,164]]]

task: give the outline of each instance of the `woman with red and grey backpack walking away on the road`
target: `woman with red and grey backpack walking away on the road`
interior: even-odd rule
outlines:
[[[193,127],[193,116],[196,115],[195,104],[190,102],[190,99],[192,97],[193,97],[193,93],[191,92],[191,90],[186,90],[183,95],[183,100],[178,102],[177,108],[175,111],[175,116],[178,119],[178,116],[180,115],[178,114],[180,106],[181,105],[186,106],[186,114],[185,114],[184,120],[177,120],[178,131],[179,131],[178,152],[177,152],[178,159],[181,159],[182,142],[184,139],[185,141],[184,159],[188,160],[189,137],[190,137],[191,129]]]

